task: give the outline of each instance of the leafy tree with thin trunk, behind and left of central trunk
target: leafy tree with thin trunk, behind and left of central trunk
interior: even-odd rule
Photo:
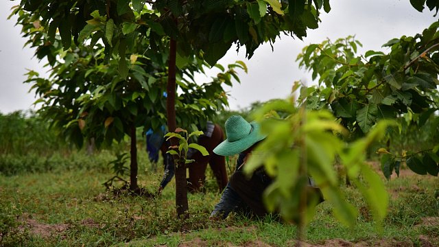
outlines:
[[[102,20],[93,13],[95,22]],[[22,13],[23,22],[29,16]],[[62,135],[71,139],[78,147],[86,139],[94,139],[97,147],[109,146],[112,141],[121,141],[125,134],[131,137],[130,190],[139,192],[137,183],[136,129],[143,127],[158,129],[166,122],[166,61],[167,54],[158,54],[147,49],[147,39],[134,40],[132,54],[123,59],[130,62],[128,75],[123,79],[119,73],[120,62],[108,59],[105,48],[97,43],[63,51],[59,36],[49,40],[44,27],[38,21],[23,28],[32,47],[37,47],[38,58],[48,58],[51,67],[49,79],[40,78],[30,71],[27,82],[40,96],[43,103],[39,110]],[[90,40],[93,42],[93,40]],[[164,40],[165,43],[166,40]],[[143,54],[141,54],[143,52]],[[114,56],[114,55],[113,55]],[[120,56],[120,54],[119,54]],[[176,107],[180,111],[178,123],[186,128],[202,126],[217,110],[228,105],[222,85],[239,82],[235,69],[245,69],[243,62],[230,64],[221,69],[212,82],[197,84],[194,73],[202,73],[206,63],[193,58],[178,70],[178,85],[182,93],[177,97]]]

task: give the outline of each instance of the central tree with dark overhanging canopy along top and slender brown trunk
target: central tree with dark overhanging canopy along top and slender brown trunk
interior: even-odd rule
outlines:
[[[233,44],[238,49],[245,45],[250,58],[259,45],[274,43],[282,32],[298,38],[306,36],[307,28],[318,27],[321,8],[329,12],[329,0],[23,0],[15,12],[26,12],[30,21],[39,21],[51,40],[59,30],[64,50],[82,47],[88,37],[92,46],[101,40],[106,58],[111,60],[112,55],[116,56],[123,79],[130,71],[126,56],[136,45],[133,36],[149,40],[149,46],[143,47],[145,50],[163,54],[166,46],[169,49],[167,126],[173,131],[176,130],[178,61],[185,64],[193,58],[202,58],[213,66]],[[169,40],[169,46],[164,40]],[[175,138],[171,143],[178,144]],[[185,174],[185,164],[176,164],[177,212],[187,217]]]

